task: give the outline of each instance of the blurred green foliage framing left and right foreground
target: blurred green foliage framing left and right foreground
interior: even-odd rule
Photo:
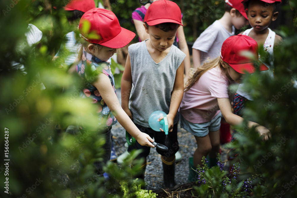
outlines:
[[[138,166],[131,169],[131,159],[121,167],[107,164],[105,171],[111,176],[105,185],[104,178],[94,173],[92,164],[100,160],[104,142],[95,134],[80,134],[75,125],[80,117],[86,126],[94,126],[97,120],[90,115],[96,110],[89,99],[79,97],[80,78],[67,74],[52,60],[63,36],[73,28],[59,8],[64,2],[30,3],[0,2],[5,11],[1,11],[0,23],[1,197],[156,197],[132,180]],[[51,9],[52,5],[58,9]],[[290,5],[296,8],[296,1]],[[36,46],[33,54],[26,44],[17,50],[24,42],[29,14],[43,33],[42,46]],[[237,126],[238,141],[232,146],[240,150],[246,178],[260,178],[250,197],[297,196],[296,21],[294,24],[281,27],[284,41],[274,52],[274,80],[260,72],[245,79],[255,98],[246,117],[267,126],[272,133],[272,138],[263,142],[254,129],[247,129],[245,124]],[[13,61],[24,65],[25,70],[12,69]],[[40,89],[42,83],[45,90]],[[219,185],[224,184],[216,183]]]

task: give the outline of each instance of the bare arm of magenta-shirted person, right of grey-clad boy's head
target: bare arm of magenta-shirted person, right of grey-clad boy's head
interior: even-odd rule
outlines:
[[[178,48],[186,54],[186,58],[184,59],[184,70],[185,70],[185,80],[189,78],[189,70],[191,67],[191,61],[190,61],[190,53],[189,48],[187,45],[186,37],[184,34],[184,27],[179,26],[177,28],[176,36],[178,37]]]

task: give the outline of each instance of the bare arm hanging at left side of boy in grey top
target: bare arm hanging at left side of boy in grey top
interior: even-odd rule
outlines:
[[[132,88],[132,74],[131,74],[131,62],[130,55],[128,53],[124,73],[121,80],[121,104],[123,110],[132,120],[132,113],[129,109],[129,98]]]

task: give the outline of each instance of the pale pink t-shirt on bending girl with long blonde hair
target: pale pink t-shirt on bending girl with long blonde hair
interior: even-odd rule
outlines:
[[[233,83],[219,67],[208,70],[184,92],[179,112],[192,123],[211,121],[220,112],[217,98],[232,98],[228,86]]]

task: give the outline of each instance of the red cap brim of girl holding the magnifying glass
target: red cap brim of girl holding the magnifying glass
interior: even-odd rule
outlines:
[[[113,39],[110,39],[109,41],[103,42],[103,43],[98,43],[100,45],[103,45],[105,47],[110,47],[110,48],[122,48],[128,45],[132,39],[136,36],[136,34],[132,31],[129,31],[125,28],[121,27],[121,32],[116,35]],[[90,42],[92,42],[90,40]],[[93,42],[92,42],[93,43]],[[95,42],[97,43],[97,42]]]

